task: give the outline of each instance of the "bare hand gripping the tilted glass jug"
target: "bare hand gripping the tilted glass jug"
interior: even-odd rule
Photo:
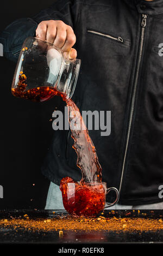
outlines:
[[[60,20],[40,22],[36,28],[36,37],[49,41],[64,52],[70,51],[71,47],[76,43],[76,35],[72,27]],[[77,51],[72,48],[69,57],[71,59],[76,58]]]

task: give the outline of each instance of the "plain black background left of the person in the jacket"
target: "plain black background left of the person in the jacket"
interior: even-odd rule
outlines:
[[[32,17],[55,0],[1,2],[0,31],[9,23]],[[1,165],[0,209],[43,209],[49,181],[41,164],[50,144],[55,97],[45,103],[17,99],[11,94],[15,63],[0,57],[1,74]],[[33,186],[33,184],[35,184]]]

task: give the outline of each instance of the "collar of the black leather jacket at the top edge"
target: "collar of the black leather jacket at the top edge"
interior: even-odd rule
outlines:
[[[130,5],[131,8],[137,9],[141,14],[161,14],[163,13],[163,0],[153,0],[151,2],[145,0],[123,0]]]

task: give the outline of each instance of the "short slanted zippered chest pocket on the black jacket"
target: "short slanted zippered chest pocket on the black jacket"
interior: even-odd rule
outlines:
[[[92,29],[87,29],[87,33],[94,34],[94,35],[97,35],[97,36],[103,37],[103,38],[108,38],[110,40],[117,41],[120,44],[130,46],[130,41],[126,38],[121,37],[120,35],[116,36],[116,35],[113,35],[110,33],[106,34],[106,33],[98,32],[98,31],[94,31]]]

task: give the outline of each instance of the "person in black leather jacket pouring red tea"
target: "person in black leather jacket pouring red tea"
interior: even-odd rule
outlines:
[[[118,209],[162,209],[162,0],[60,0],[1,34],[17,61],[24,39],[50,41],[82,59],[73,100],[82,110],[111,110],[111,134],[90,130],[103,181],[120,190]],[[62,209],[62,177],[79,181],[71,133],[56,131],[42,167],[51,180],[46,209]],[[159,196],[160,195],[160,196]],[[107,201],[113,201],[107,197]]]

